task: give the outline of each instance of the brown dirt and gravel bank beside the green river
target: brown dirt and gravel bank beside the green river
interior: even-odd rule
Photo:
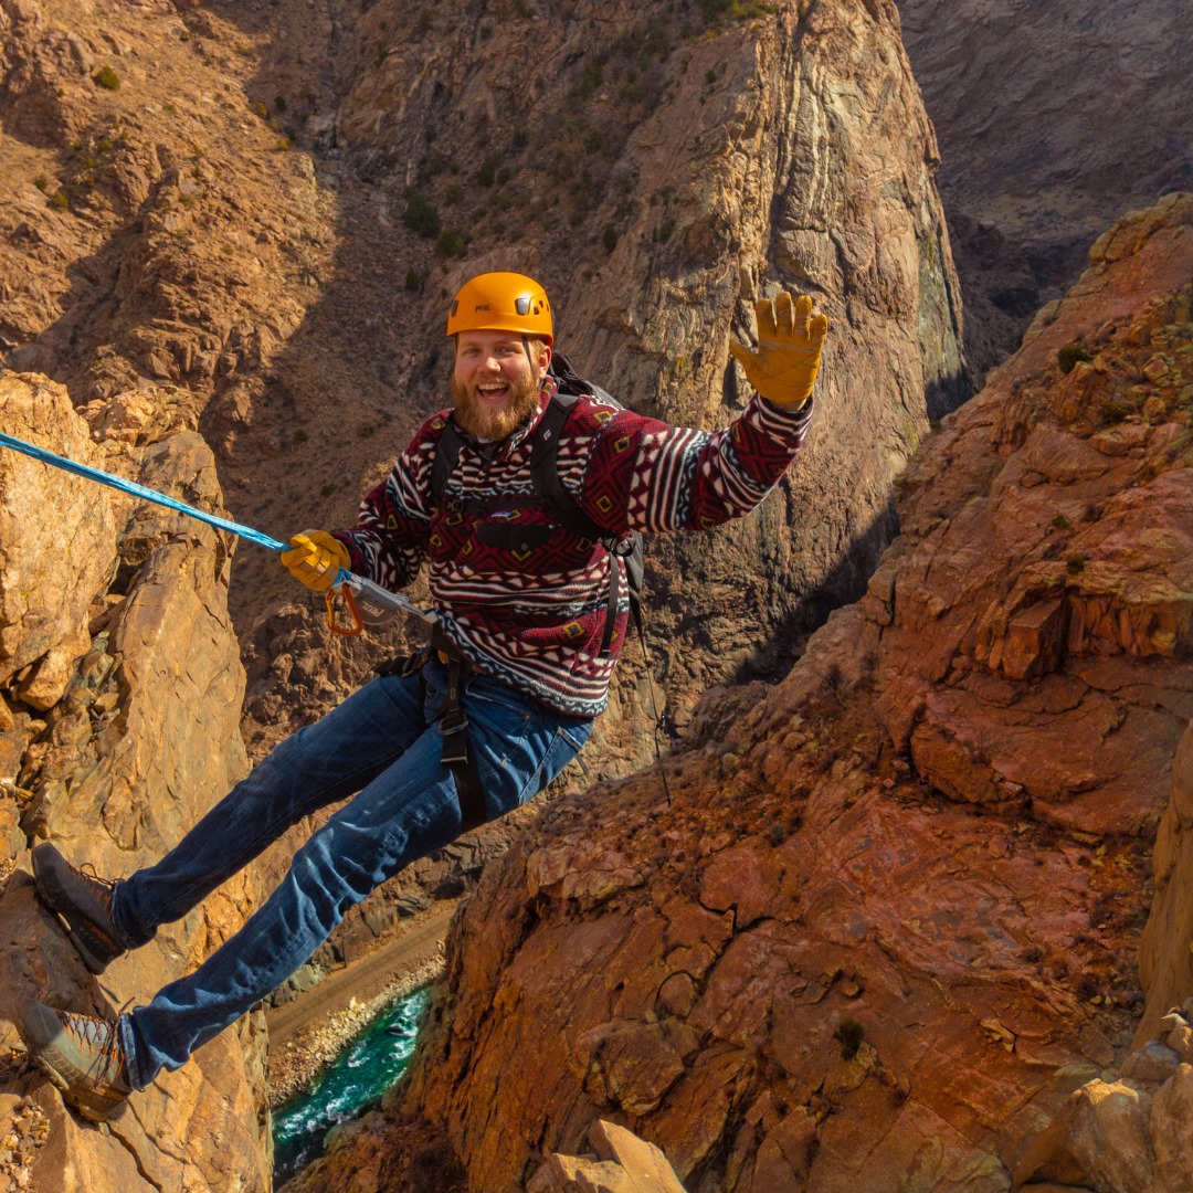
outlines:
[[[266,1013],[271,1108],[309,1086],[388,1007],[440,975],[456,905],[413,917],[395,940]]]

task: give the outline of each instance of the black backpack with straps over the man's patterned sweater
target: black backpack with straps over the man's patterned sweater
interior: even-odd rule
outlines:
[[[606,390],[599,385],[586,381],[573,367],[567,357],[555,353],[549,367],[550,375],[555,378],[557,389],[550,406],[543,412],[538,426],[534,428],[530,455],[531,481],[534,486],[534,503],[544,505],[551,514],[560,520],[568,530],[594,543],[600,543],[610,555],[610,586],[608,586],[608,613],[605,618],[605,638],[601,642],[600,653],[607,655],[613,642],[613,624],[617,607],[622,599],[622,585],[629,589],[630,616],[638,628],[639,636],[642,626],[642,534],[633,531],[625,538],[617,538],[598,526],[580,508],[579,502],[564,488],[560,480],[560,470],[556,464],[556,451],[560,445],[560,435],[563,433],[564,424],[571,414],[571,407],[577,397],[592,394],[602,402],[622,409],[620,404]],[[437,506],[443,507],[444,494],[447,492],[447,481],[456,470],[459,462],[460,449],[464,440],[460,438],[456,424],[449,419],[439,437],[439,445],[435,450],[435,462],[431,470],[431,494]],[[493,499],[484,501],[474,499],[464,502],[464,508],[470,513],[483,513],[490,506],[509,505],[509,499]],[[487,527],[490,528],[490,527]],[[527,527],[536,530],[542,527]],[[520,533],[526,530],[518,527],[492,527],[494,533]],[[494,544],[496,545],[496,543]],[[532,543],[520,543],[519,548],[525,550]]]

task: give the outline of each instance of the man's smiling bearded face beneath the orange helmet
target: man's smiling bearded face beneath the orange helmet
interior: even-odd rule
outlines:
[[[531,340],[530,357],[517,332],[459,333],[452,397],[456,421],[469,434],[505,439],[538,409],[539,382],[551,350]]]

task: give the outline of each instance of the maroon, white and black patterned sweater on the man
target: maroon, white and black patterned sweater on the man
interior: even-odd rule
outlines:
[[[481,444],[464,435],[443,508],[432,496],[431,472],[450,412],[428,419],[364,499],[357,525],[336,538],[353,571],[392,591],[428,562],[435,611],[472,667],[565,715],[593,717],[608,701],[629,601],[623,585],[612,649],[601,654],[608,552],[525,503],[534,492],[532,432],[554,384],[544,382],[534,418],[509,438]],[[560,478],[611,536],[707,530],[766,496],[799,451],[811,406],[789,414],[755,395],[727,429],[709,434],[580,397],[560,439]],[[484,501],[486,511],[460,512],[469,499]],[[513,500],[502,508],[493,499]],[[511,521],[530,527],[527,550],[511,544]]]

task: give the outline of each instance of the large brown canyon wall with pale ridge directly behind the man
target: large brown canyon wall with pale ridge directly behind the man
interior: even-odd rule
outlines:
[[[5,360],[76,404],[185,391],[230,513],[285,539],[351,523],[444,404],[444,311],[475,270],[540,276],[580,369],[703,427],[746,401],[727,346],[758,295],[810,291],[839,414],[753,518],[648,552],[649,669],[682,729],[705,687],[780,674],[861,591],[927,395],[962,369],[894,7],[775,10],[5,0]],[[333,641],[255,546],[229,604],[254,758],[404,644]],[[567,784],[653,758],[638,651]],[[502,840],[465,845],[465,870]],[[371,901],[322,960],[424,897]]]

